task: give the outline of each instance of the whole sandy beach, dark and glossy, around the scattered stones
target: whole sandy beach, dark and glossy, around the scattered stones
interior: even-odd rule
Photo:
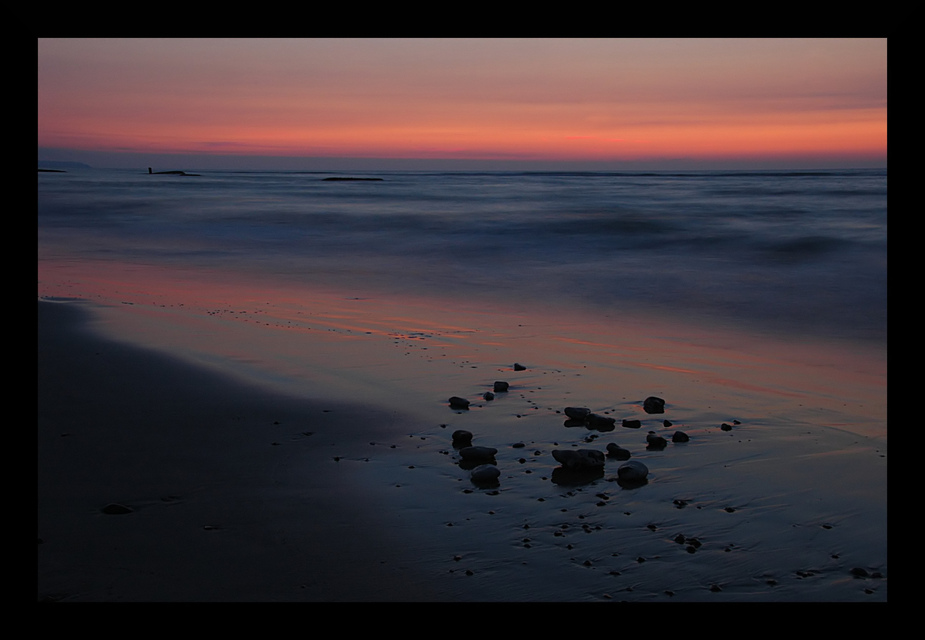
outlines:
[[[887,599],[885,359],[628,317],[42,275],[62,301],[39,302],[40,600]],[[510,390],[484,400],[495,380]],[[566,406],[616,426],[566,426]],[[456,429],[498,449],[497,486],[470,481]],[[650,430],[690,442],[647,449]],[[608,442],[645,485],[610,459],[563,476],[551,455]]]

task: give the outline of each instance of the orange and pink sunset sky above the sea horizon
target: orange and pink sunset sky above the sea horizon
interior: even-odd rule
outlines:
[[[99,167],[885,167],[887,42],[39,39],[38,147]]]

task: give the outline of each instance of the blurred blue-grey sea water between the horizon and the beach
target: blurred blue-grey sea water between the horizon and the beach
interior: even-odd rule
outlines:
[[[40,261],[886,341],[885,169],[75,169],[39,173],[38,232]]]

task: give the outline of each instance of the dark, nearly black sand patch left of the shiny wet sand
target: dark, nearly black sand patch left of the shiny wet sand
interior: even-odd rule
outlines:
[[[40,601],[447,597],[334,460],[393,416],[275,395],[84,322],[38,304]]]

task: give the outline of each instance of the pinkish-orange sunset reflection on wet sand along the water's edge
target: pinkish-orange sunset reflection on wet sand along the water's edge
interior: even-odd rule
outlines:
[[[132,341],[209,363],[230,360],[299,389],[324,381],[332,393],[363,389],[388,403],[413,388],[439,402],[458,393],[455,385],[483,384],[519,361],[529,366],[521,381],[542,380],[543,393],[561,388],[592,406],[665,393],[670,404],[696,407],[709,396],[730,409],[799,415],[813,407],[829,411],[833,424],[886,429],[885,357],[838,345],[527,309],[523,301],[485,308],[482,301],[309,289],[207,269],[40,259],[38,275],[40,296],[116,310],[107,327]],[[437,357],[446,365],[439,375]]]

